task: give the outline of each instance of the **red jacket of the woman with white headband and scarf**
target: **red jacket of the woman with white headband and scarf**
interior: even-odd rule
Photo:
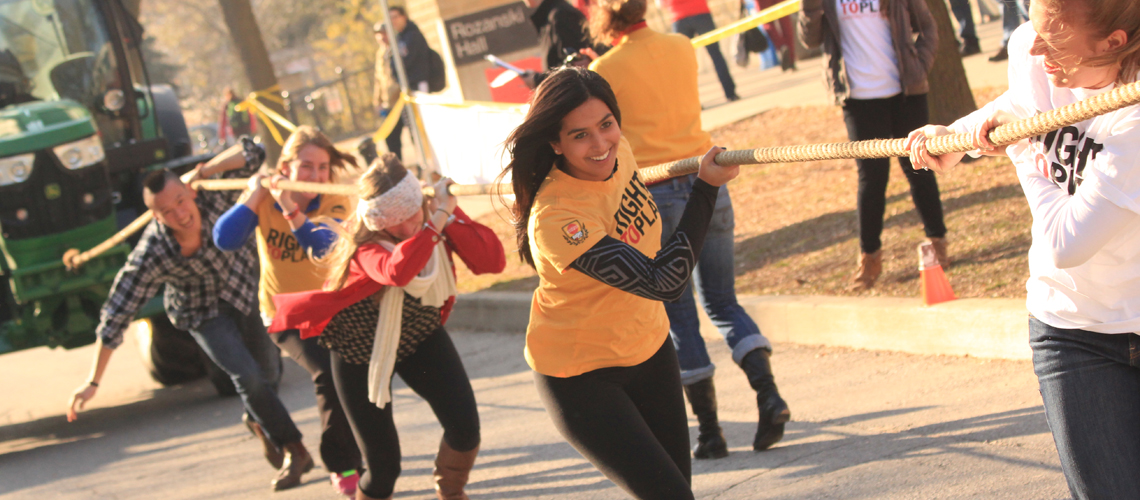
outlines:
[[[458,254],[475,274],[503,272],[506,267],[503,244],[495,231],[472,221],[458,207],[455,208],[455,221],[443,228],[443,236],[448,257]],[[341,289],[275,296],[277,314],[274,315],[269,331],[299,329],[301,338],[320,335],[328,321],[344,308],[385,286],[402,287],[410,282],[427,264],[438,238],[434,231],[425,229],[397,244],[392,252],[375,243],[361,245],[349,263],[349,277]],[[454,304],[455,296],[451,296],[440,309],[445,323]]]

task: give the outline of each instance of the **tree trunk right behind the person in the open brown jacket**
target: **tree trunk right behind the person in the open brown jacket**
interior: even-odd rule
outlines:
[[[958,34],[950,22],[946,0],[927,0],[935,25],[938,26],[938,47],[930,69],[930,123],[948,125],[978,108],[966,79],[962,56],[958,52]]]

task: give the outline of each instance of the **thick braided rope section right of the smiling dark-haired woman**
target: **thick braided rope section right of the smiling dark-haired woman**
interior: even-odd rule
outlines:
[[[1085,120],[1110,113],[1140,103],[1140,82],[1113,89],[1078,103],[1062,106],[1033,117],[1018,120],[990,131],[990,141],[1005,146],[1031,137],[1081,123]],[[885,158],[907,156],[906,139],[876,139],[856,142],[819,144],[805,146],[776,146],[771,148],[741,149],[716,155],[720,165],[752,165],[760,163],[813,162],[820,159]],[[975,149],[969,133],[940,136],[927,140],[931,155],[964,153]],[[697,173],[701,158],[678,159],[657,166],[641,169],[643,182],[652,183],[678,175]]]

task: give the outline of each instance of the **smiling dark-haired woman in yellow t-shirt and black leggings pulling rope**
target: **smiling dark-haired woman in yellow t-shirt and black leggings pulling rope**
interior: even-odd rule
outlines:
[[[692,50],[692,49],[690,49]],[[597,73],[567,67],[535,91],[507,139],[515,236],[539,285],[527,363],[567,441],[638,499],[692,499],[677,354],[661,301],[675,301],[705,246],[719,186],[739,167],[701,162],[685,214],[663,222]],[[502,180],[500,177],[500,180]]]

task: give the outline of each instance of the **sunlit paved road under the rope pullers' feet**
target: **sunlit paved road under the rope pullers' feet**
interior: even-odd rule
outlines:
[[[625,498],[549,424],[521,335],[454,337],[483,426],[472,498]],[[698,498],[1068,497],[1026,362],[777,345],[793,421],[777,448],[755,453],[754,395],[724,343],[709,345],[732,454],[694,464]],[[67,424],[64,401],[90,354],[39,349],[0,358],[0,499],[335,498],[316,472],[295,490],[270,493],[272,472],[239,423],[239,402],[205,382],[160,388],[135,352],[117,354],[92,408]],[[311,386],[288,360],[282,394],[315,449]],[[432,498],[441,431],[402,384],[396,418],[405,454],[396,498]]]

